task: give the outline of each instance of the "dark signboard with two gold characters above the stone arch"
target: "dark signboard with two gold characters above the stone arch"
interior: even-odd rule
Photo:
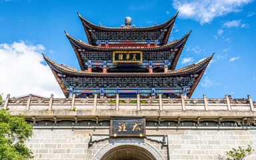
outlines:
[[[111,119],[111,136],[145,136],[145,119],[144,118],[112,118]]]

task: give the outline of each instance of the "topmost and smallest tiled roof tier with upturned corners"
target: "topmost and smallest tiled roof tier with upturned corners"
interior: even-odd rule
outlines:
[[[178,12],[179,13],[179,12]],[[125,31],[154,31],[154,30],[159,30],[159,29],[167,29],[167,31],[164,33],[164,38],[163,38],[163,45],[167,44],[168,39],[169,39],[169,35],[171,33],[171,29],[173,28],[173,24],[175,22],[175,19],[178,15],[178,13],[176,13],[176,15],[174,15],[171,19],[169,19],[168,21],[166,21],[165,23],[162,23],[161,25],[153,25],[151,27],[103,27],[103,26],[99,26],[99,25],[94,25],[93,23],[87,21],[86,19],[84,19],[79,13],[77,13],[79,15],[79,19],[81,20],[81,22],[83,23],[83,28],[85,29],[85,33],[87,35],[87,39],[90,45],[93,45],[93,37],[91,35],[91,32],[89,31],[91,30],[99,30],[99,31],[116,31],[116,32],[125,32]]]

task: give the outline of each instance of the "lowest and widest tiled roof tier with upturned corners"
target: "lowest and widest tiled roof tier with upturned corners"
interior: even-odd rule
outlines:
[[[168,73],[89,73],[87,71],[80,71],[78,69],[74,69],[67,65],[59,65],[54,61],[51,61],[51,59],[45,57],[45,55],[43,55],[43,57],[45,61],[47,61],[49,67],[51,68],[51,71],[53,71],[53,75],[55,75],[55,78],[57,79],[57,82],[59,83],[66,97],[68,97],[69,94],[67,93],[61,79],[59,79],[59,76],[57,75],[57,73],[59,72],[77,77],[175,77],[179,75],[183,76],[189,75],[191,73],[197,73],[198,76],[195,79],[195,83],[192,85],[189,93],[187,93],[187,97],[190,98],[193,94],[193,91],[195,91],[195,87],[197,87],[197,85],[199,84],[199,81],[201,80],[201,77],[203,76],[207,65],[213,58],[213,54],[199,63],[193,63],[192,65],[188,65],[187,67],[183,67],[175,71],[168,71]]]

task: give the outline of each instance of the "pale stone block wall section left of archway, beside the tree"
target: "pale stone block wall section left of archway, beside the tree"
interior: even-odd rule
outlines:
[[[87,159],[89,134],[73,129],[34,129],[27,146],[34,159]]]

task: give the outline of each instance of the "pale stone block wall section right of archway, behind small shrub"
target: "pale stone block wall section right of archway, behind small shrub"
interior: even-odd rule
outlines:
[[[216,159],[233,147],[247,145],[256,149],[256,130],[200,129],[173,131],[168,135],[169,159]],[[256,159],[255,153],[247,159]]]

